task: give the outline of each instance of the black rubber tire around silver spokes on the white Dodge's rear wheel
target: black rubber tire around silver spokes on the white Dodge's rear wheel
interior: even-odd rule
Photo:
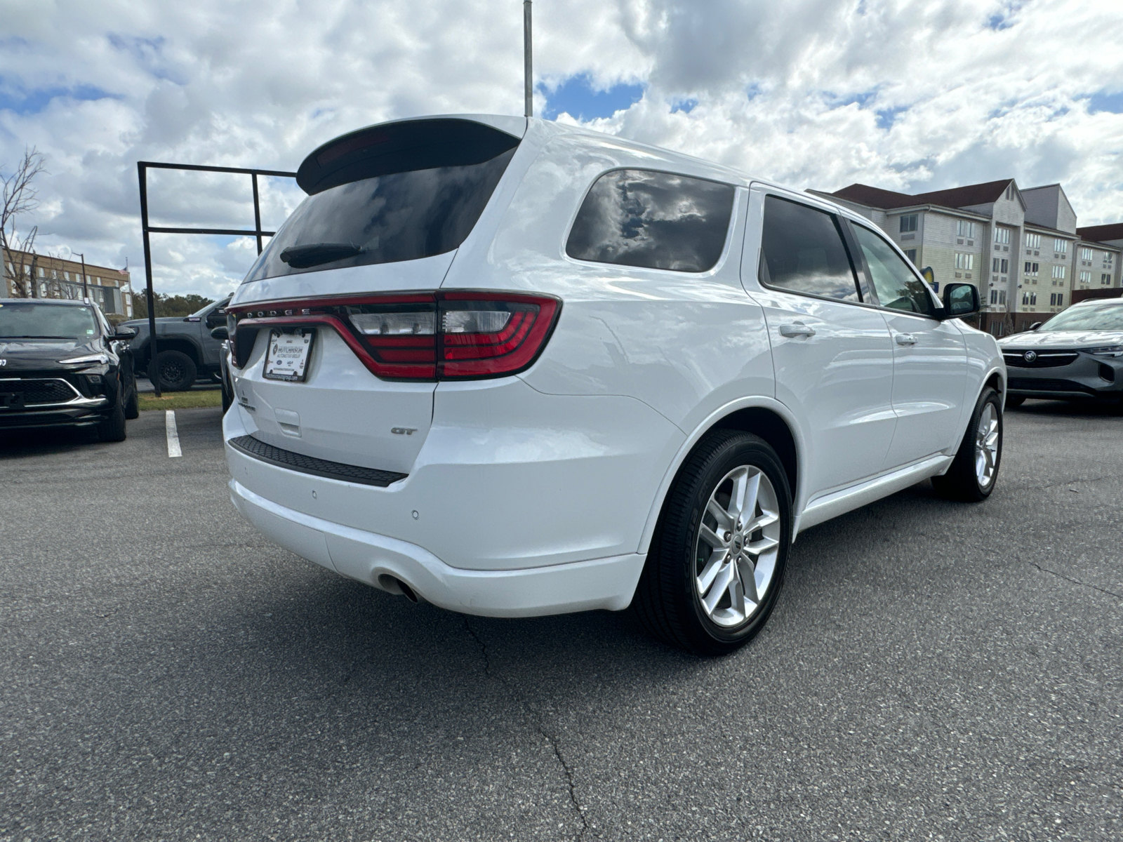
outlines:
[[[750,610],[750,601],[746,597],[743,620],[729,625],[715,621],[702,603],[700,567],[703,577],[704,570],[709,568],[701,553],[706,551],[712,560],[716,551],[712,550],[714,555],[709,555],[712,544],[705,546],[700,532],[703,523],[718,523],[707,510],[711,496],[722,493],[721,489],[727,487],[724,482],[728,475],[740,466],[755,469],[767,477],[778,515],[768,528],[772,536],[764,536],[761,530],[755,530],[745,533],[743,538],[746,541],[759,541],[767,537],[769,540],[778,540],[778,544],[775,547],[772,577],[765,585],[764,596],[755,610]],[[766,492],[766,486],[761,484],[761,498],[767,496]],[[754,515],[761,511],[755,506]],[[716,531],[721,532],[720,528]],[[730,541],[729,533],[725,534],[729,546],[734,546],[734,542],[738,548],[742,546],[741,537]],[[768,621],[784,583],[791,543],[792,494],[776,451],[764,439],[750,433],[718,430],[697,445],[667,494],[655,540],[632,601],[636,615],[652,635],[670,646],[700,656],[733,652],[751,640]],[[770,551],[768,557],[772,557]],[[760,558],[766,557],[761,555],[758,560]],[[710,587],[718,588],[715,579],[711,579]],[[752,587],[755,589],[756,585]],[[718,591],[707,595],[715,593]],[[721,591],[715,614],[719,611],[736,614],[731,593]],[[727,600],[729,606],[721,607]]]

